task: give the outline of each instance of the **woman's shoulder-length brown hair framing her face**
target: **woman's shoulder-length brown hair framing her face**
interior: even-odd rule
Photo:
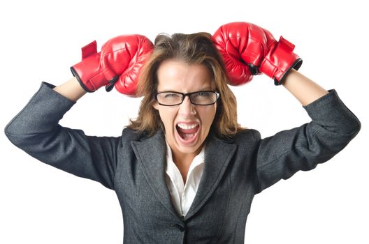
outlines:
[[[153,135],[159,128],[164,130],[159,112],[152,107],[157,91],[157,70],[168,59],[189,64],[203,64],[209,68],[219,92],[217,112],[211,131],[218,137],[232,137],[242,130],[237,122],[236,97],[227,85],[224,63],[217,48],[212,43],[210,33],[175,33],[172,36],[161,33],[155,38],[154,50],[141,70],[137,95],[143,96],[138,117],[130,120],[129,128]]]

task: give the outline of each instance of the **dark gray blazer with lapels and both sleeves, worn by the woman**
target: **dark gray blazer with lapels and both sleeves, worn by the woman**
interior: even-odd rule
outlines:
[[[115,190],[124,243],[243,243],[256,193],[298,170],[310,170],[344,148],[359,120],[333,90],[305,106],[312,121],[261,139],[243,130],[231,139],[208,136],[205,167],[186,216],[178,216],[166,187],[164,133],[87,136],[59,125],[75,102],[43,83],[5,133],[15,146],[49,165]]]

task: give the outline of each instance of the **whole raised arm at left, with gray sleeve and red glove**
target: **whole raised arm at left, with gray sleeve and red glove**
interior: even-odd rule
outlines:
[[[121,137],[94,137],[59,124],[87,92],[102,86],[133,95],[136,77],[152,44],[143,36],[118,36],[101,52],[96,43],[82,48],[83,59],[72,66],[75,76],[55,87],[43,82],[27,105],[6,125],[5,134],[32,157],[76,176],[114,188],[117,148]]]

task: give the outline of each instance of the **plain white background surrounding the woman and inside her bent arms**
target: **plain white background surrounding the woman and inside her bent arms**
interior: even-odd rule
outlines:
[[[324,165],[298,172],[256,195],[246,243],[369,243],[368,8],[365,1],[2,1],[0,127],[41,81],[61,84],[80,47],[113,36],[214,33],[245,21],[283,35],[303,58],[300,71],[336,89],[361,132]],[[310,121],[299,102],[268,77],[233,87],[239,121],[262,137]],[[139,98],[103,89],[87,94],[61,125],[119,136]],[[0,134],[0,243],[122,243],[115,192],[20,151]]]

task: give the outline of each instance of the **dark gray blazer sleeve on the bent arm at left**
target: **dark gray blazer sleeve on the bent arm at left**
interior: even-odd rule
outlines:
[[[32,157],[68,173],[113,189],[120,137],[87,136],[59,125],[75,104],[43,82],[22,111],[6,125],[5,134]]]

